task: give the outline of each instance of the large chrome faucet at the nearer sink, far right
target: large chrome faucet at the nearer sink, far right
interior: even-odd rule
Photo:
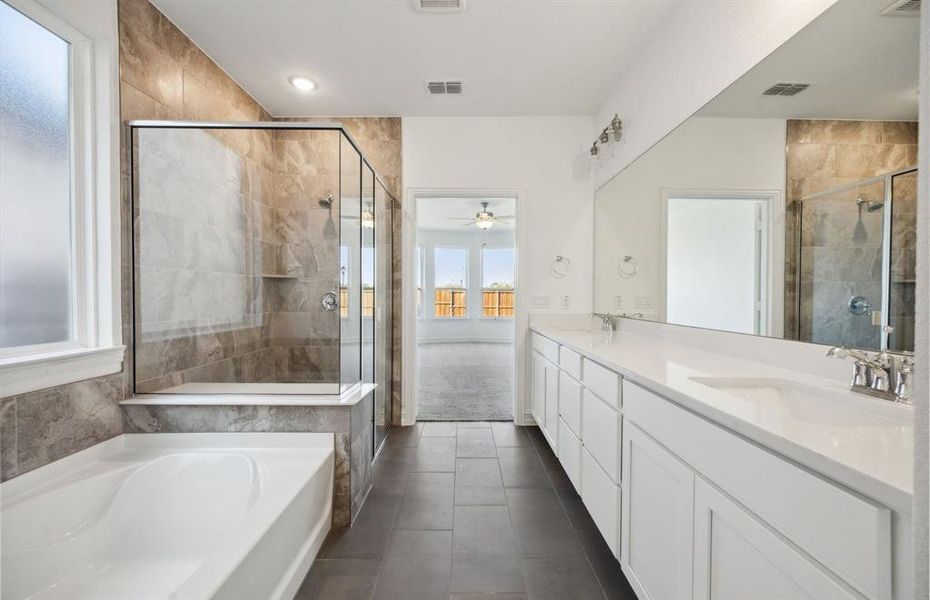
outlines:
[[[849,384],[851,391],[910,404],[913,358],[905,356],[900,361],[895,361],[894,356],[885,351],[869,354],[846,346],[830,348],[827,356],[853,359],[853,378]]]

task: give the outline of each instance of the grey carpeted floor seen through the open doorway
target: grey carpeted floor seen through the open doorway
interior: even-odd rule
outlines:
[[[417,345],[417,419],[513,419],[513,345]]]

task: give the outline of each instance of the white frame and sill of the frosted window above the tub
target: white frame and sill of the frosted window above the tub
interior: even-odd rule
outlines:
[[[78,7],[53,12],[36,0],[3,0],[69,44],[71,134],[71,327],[63,342],[0,350],[0,396],[122,370],[117,37]],[[111,10],[111,9],[107,9]],[[86,11],[85,11],[86,12]],[[116,23],[115,7],[111,11]]]

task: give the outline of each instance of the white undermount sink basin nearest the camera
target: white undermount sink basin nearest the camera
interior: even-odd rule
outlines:
[[[768,377],[691,377],[691,381],[734,396],[765,411],[780,411],[808,423],[881,426],[906,422],[903,407],[883,400]]]

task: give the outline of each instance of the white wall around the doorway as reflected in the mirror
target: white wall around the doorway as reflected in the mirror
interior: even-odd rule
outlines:
[[[663,190],[758,190],[785,187],[785,121],[694,117],[642,155],[597,192],[594,306],[599,312],[661,314]],[[784,215],[774,223],[784,238]],[[630,255],[639,272],[617,275],[618,257]],[[621,308],[616,296],[624,298]],[[636,298],[652,299],[652,308]]]

